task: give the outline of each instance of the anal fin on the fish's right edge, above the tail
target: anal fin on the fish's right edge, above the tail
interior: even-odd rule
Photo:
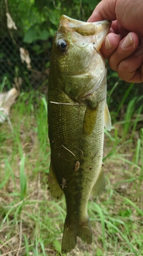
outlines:
[[[105,190],[105,177],[104,177],[103,170],[101,168],[97,182],[92,188],[91,194],[93,195],[93,197],[99,197],[104,192],[104,190]]]

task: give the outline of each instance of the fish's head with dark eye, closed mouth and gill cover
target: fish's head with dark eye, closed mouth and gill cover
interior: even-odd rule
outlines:
[[[60,17],[52,52],[57,74],[63,80],[60,86],[71,98],[89,97],[106,76],[100,48],[110,25],[108,20],[88,23]]]

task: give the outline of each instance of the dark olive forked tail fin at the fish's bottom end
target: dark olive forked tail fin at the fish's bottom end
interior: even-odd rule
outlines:
[[[91,244],[92,243],[92,231],[91,223],[88,218],[80,223],[70,223],[66,217],[64,223],[64,232],[63,239],[61,244],[62,254],[70,252],[76,246],[77,239],[79,236],[84,242]]]

